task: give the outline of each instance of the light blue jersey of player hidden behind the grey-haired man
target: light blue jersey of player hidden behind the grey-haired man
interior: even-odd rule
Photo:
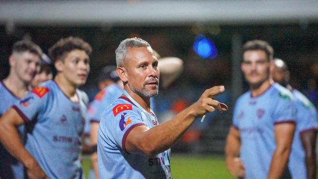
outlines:
[[[123,93],[123,90],[116,84],[112,84],[103,90],[100,90],[94,100],[90,103],[87,111],[87,117],[84,127],[84,133],[90,134],[90,123],[97,122],[102,119],[103,112],[110,104],[112,104]]]

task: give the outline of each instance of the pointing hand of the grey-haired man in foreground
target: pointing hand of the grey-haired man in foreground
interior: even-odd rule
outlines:
[[[227,111],[227,105],[214,100],[214,96],[224,92],[224,86],[216,86],[204,91],[199,100],[192,105],[197,117],[203,116],[206,112]]]

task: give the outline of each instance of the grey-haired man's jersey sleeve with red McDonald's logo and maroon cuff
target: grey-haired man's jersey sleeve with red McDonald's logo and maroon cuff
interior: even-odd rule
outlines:
[[[125,143],[126,138],[131,130],[137,126],[146,125],[141,119],[141,114],[134,110],[135,106],[131,104],[118,104],[113,108],[114,122],[113,125],[108,125],[111,127],[109,130],[114,136],[115,143],[120,146],[123,150],[126,150]],[[116,110],[123,110],[122,112],[116,112]],[[125,110],[126,109],[126,110]],[[105,113],[105,115],[107,115]],[[109,116],[109,115],[108,115]],[[105,120],[106,121],[106,120]],[[107,124],[107,123],[105,123]]]

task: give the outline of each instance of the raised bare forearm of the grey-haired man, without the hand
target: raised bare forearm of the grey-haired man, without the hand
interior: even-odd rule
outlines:
[[[189,107],[168,122],[151,128],[140,136],[142,151],[148,156],[154,156],[171,148],[195,119],[196,115]]]

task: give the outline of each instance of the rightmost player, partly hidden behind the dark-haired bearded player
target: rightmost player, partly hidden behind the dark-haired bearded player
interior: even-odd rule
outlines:
[[[271,75],[275,82],[292,91],[297,100],[297,125],[288,167],[293,179],[316,179],[317,110],[308,98],[289,85],[286,63],[274,59]]]

